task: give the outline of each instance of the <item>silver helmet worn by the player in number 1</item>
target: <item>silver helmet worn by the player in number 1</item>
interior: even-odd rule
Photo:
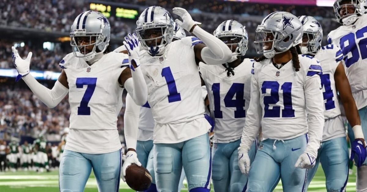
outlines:
[[[148,7],[138,18],[136,32],[144,50],[153,56],[161,55],[166,45],[172,42],[174,34],[172,16],[162,7]]]

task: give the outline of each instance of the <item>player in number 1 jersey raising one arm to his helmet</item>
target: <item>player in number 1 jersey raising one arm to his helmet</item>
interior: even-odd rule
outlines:
[[[172,42],[171,14],[158,6],[142,12],[136,29],[144,49],[140,60],[155,120],[155,180],[158,191],[177,191],[183,166],[189,191],[208,192],[211,156],[207,131],[211,125],[204,117],[198,64],[226,63],[232,52],[197,26],[185,9],[173,8],[173,13],[183,20],[176,19],[176,23],[197,37]],[[128,149],[123,169],[138,161],[129,156],[131,151],[134,149]]]

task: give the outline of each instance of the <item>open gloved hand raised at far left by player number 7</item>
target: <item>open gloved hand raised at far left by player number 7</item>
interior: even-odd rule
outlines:
[[[15,78],[15,81],[19,81],[22,77],[29,74],[29,65],[30,65],[30,58],[32,58],[32,52],[28,53],[26,59],[22,59],[19,56],[18,50],[13,46],[11,47],[13,51],[12,59],[15,68],[18,70],[18,76]]]

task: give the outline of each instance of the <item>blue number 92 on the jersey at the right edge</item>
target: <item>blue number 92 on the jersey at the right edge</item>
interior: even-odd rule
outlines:
[[[340,38],[340,49],[344,55],[345,66],[350,67],[352,64],[356,63],[359,58],[362,59],[367,58],[367,38],[361,39],[359,41],[359,49],[358,51],[356,45],[356,38],[363,38],[364,33],[367,32],[367,26],[363,27],[362,29],[357,30],[356,34],[348,33],[342,38]],[[356,38],[355,38],[356,37]],[[348,54],[351,53],[351,56],[348,57]]]

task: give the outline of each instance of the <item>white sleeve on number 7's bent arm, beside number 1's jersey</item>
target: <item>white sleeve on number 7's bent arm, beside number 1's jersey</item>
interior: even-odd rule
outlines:
[[[142,106],[148,98],[148,89],[141,71],[141,67],[131,70],[132,78],[128,78],[124,83],[124,88],[130,94],[135,103]]]

